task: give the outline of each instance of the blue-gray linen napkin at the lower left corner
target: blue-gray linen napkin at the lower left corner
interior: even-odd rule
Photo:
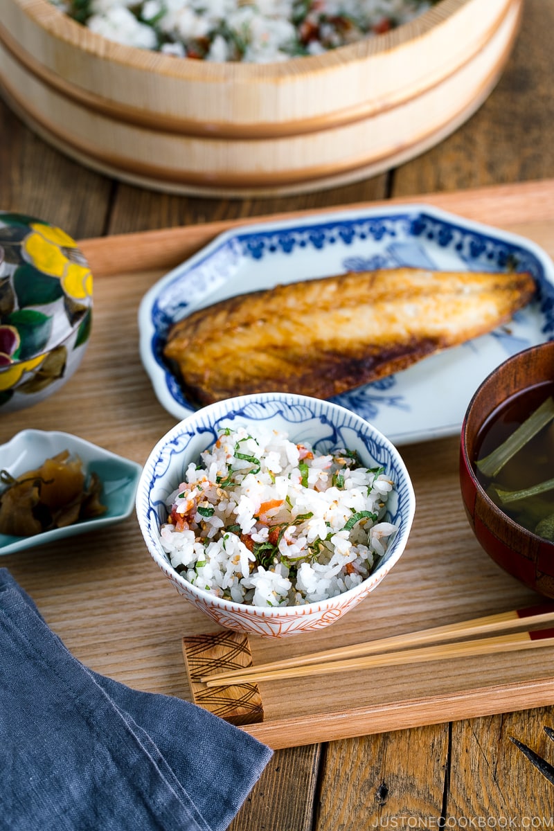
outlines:
[[[0,829],[223,831],[272,751],[77,661],[0,568]]]

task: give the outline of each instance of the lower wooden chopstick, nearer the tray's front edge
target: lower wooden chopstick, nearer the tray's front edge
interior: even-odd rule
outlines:
[[[320,664],[290,666],[281,669],[258,671],[240,671],[233,676],[226,676],[223,681],[216,676],[203,676],[207,687],[230,686],[257,681],[277,681],[283,678],[301,678],[303,676],[326,675],[332,672],[370,669],[375,666],[394,666],[399,664],[421,663],[423,661],[444,661],[446,658],[490,655],[494,652],[516,652],[536,647],[554,647],[554,629],[540,629],[533,632],[511,632],[507,635],[483,637],[470,641],[438,643],[432,647],[406,649],[400,652],[358,656],[344,661],[329,661]],[[249,668],[248,668],[249,669]]]

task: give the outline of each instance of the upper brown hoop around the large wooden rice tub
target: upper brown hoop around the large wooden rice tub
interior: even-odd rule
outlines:
[[[445,0],[448,2],[448,0]],[[465,2],[465,0],[463,0]],[[451,5],[460,5],[460,0],[452,2]],[[437,12],[437,7],[426,12],[430,15],[431,12]],[[278,139],[294,135],[306,135],[309,133],[321,132],[323,130],[331,130],[336,127],[342,127],[350,124],[355,124],[358,121],[366,120],[371,116],[378,115],[390,111],[395,106],[400,106],[406,101],[413,101],[425,93],[439,86],[449,77],[452,77],[459,70],[463,69],[470,61],[473,60],[483,46],[486,45],[490,37],[501,27],[507,15],[512,12],[511,7],[507,6],[501,17],[494,22],[494,25],[483,34],[483,37],[475,44],[473,52],[464,56],[462,62],[453,66],[449,71],[444,73],[440,81],[429,82],[426,86],[419,87],[415,93],[409,88],[404,88],[399,91],[396,96],[392,96],[389,101],[375,102],[368,99],[357,106],[351,106],[345,110],[336,111],[331,114],[314,116],[311,118],[299,120],[288,120],[281,122],[258,122],[254,125],[247,125],[241,123],[230,122],[204,122],[201,120],[187,119],[179,116],[171,116],[164,113],[154,113],[145,111],[133,106],[126,106],[120,102],[110,101],[103,96],[96,95],[93,92],[77,86],[71,81],[51,71],[47,66],[43,66],[40,61],[37,61],[21,44],[19,44],[14,37],[7,32],[5,27],[0,23],[0,45],[11,55],[14,61],[22,66],[32,76],[41,81],[42,84],[48,86],[51,90],[60,93],[70,101],[84,106],[91,112],[99,113],[101,116],[121,121],[125,124],[145,127],[154,132],[162,132],[169,134],[178,134],[189,136],[191,138],[213,138],[213,139],[238,139],[238,140],[263,140],[263,139]],[[425,15],[425,16],[426,16]],[[424,16],[422,16],[424,17]],[[438,15],[440,20],[444,19],[444,14]],[[70,20],[71,23],[73,21]],[[434,23],[435,23],[434,22]],[[75,24],[79,25],[79,24]],[[412,23],[406,24],[411,26]],[[433,24],[434,25],[434,24]],[[385,35],[380,37],[386,37]],[[373,40],[370,44],[373,44]],[[342,49],[350,49],[351,47],[341,47]],[[140,52],[140,50],[135,50]],[[174,58],[169,60],[174,61]],[[250,67],[252,68],[252,67]],[[17,99],[17,95],[11,90],[11,95]],[[20,106],[22,102],[20,101]],[[51,127],[48,128],[51,132]],[[316,174],[317,175],[317,174]]]

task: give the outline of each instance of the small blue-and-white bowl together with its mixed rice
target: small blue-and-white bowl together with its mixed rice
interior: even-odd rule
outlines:
[[[265,393],[180,421],[136,497],[154,562],[220,626],[262,637],[339,620],[399,560],[414,490],[395,446],[330,401]]]

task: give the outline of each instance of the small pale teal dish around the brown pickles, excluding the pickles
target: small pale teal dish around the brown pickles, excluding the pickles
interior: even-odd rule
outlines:
[[[0,466],[2,470],[7,470],[10,475],[17,477],[28,470],[37,470],[46,459],[51,459],[62,450],[69,450],[71,455],[81,459],[86,476],[94,472],[101,479],[100,501],[107,508],[105,514],[96,519],[86,519],[68,525],[66,528],[44,531],[32,537],[0,534],[0,554],[35,548],[75,534],[87,534],[121,522],[132,513],[141,466],[76,435],[57,431],[22,430],[7,444],[0,446]],[[0,485],[0,493],[1,491]]]

